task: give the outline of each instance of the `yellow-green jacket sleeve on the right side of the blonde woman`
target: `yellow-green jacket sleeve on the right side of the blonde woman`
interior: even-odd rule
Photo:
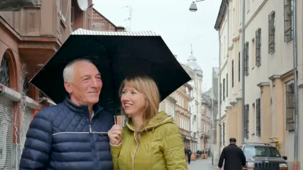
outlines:
[[[167,170],[187,170],[182,137],[175,124],[167,126],[162,146]]]

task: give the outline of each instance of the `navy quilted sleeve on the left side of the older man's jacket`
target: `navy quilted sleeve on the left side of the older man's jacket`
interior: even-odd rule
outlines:
[[[38,112],[29,125],[20,170],[46,169],[52,143],[52,125],[47,113]]]

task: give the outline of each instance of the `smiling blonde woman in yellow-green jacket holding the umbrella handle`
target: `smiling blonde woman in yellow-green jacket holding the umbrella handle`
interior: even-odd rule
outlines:
[[[125,79],[119,90],[123,129],[108,132],[115,170],[187,170],[184,146],[173,118],[159,112],[159,92],[146,76]],[[123,140],[122,140],[123,138]]]

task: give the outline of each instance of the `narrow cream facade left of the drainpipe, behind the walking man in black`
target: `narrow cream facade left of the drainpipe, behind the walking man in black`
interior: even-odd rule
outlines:
[[[215,29],[219,32],[218,114],[214,164],[222,149],[235,137],[242,137],[241,5],[239,0],[222,0]]]

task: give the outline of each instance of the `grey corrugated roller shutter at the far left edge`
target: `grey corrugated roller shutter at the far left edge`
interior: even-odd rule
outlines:
[[[10,170],[12,102],[0,96],[0,170]]]

